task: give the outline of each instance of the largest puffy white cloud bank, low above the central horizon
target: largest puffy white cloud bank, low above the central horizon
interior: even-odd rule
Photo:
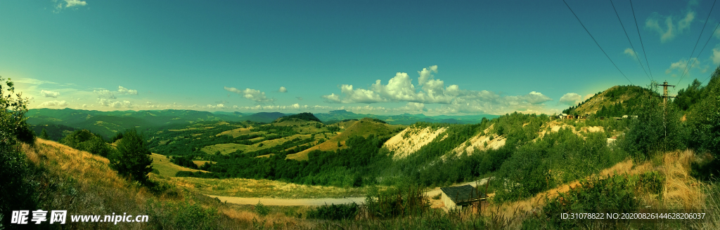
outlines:
[[[436,79],[433,73],[438,73],[437,65],[423,68],[418,71],[418,86],[415,86],[408,73],[396,73],[394,77],[383,84],[376,80],[369,89],[354,88],[352,85],[340,86],[340,94],[330,93],[321,96],[328,103],[380,103],[380,102],[412,102],[414,106],[423,106],[427,103],[445,104],[447,111],[468,111],[465,107],[475,106],[472,113],[477,111],[496,112],[508,111],[512,108],[541,107],[552,98],[542,93],[532,91],[521,96],[500,96],[490,91],[462,90],[457,85],[446,86],[443,80]],[[413,109],[413,106],[403,108]],[[417,109],[417,108],[414,108]]]

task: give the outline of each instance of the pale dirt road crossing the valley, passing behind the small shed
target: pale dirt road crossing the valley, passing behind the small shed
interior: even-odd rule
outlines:
[[[488,178],[477,181],[477,185],[485,185]],[[475,185],[475,182],[462,183],[459,185]],[[435,188],[425,192],[428,196],[438,195],[440,188]],[[205,194],[207,195],[207,194]],[[347,198],[300,198],[300,199],[284,199],[284,198],[245,198],[235,196],[207,195],[212,198],[220,199],[220,202],[228,202],[235,204],[255,205],[258,202],[266,206],[324,206],[325,204],[341,204],[341,203],[364,203],[364,197],[347,197]]]

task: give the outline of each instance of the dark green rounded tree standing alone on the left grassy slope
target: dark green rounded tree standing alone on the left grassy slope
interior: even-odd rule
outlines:
[[[122,135],[117,143],[117,152],[110,159],[110,167],[120,175],[143,184],[148,183],[148,172],[153,171],[152,163],[145,138],[135,129],[127,130]]]

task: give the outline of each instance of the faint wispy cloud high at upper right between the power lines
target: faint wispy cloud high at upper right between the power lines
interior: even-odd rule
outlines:
[[[657,32],[660,35],[660,42],[667,42],[690,28],[693,20],[695,20],[695,12],[690,10],[682,17],[653,13],[645,20],[645,28]]]

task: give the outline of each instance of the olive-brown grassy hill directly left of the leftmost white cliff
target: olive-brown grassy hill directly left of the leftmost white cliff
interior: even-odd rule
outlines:
[[[345,125],[351,124],[347,123],[349,121],[346,121],[344,123]],[[343,125],[343,124],[338,124]],[[345,142],[350,138],[354,136],[359,137],[368,137],[370,134],[374,134],[380,137],[389,137],[392,136],[392,134],[399,132],[402,130],[402,126],[393,126],[390,124],[384,124],[382,122],[370,119],[370,118],[364,118],[359,121],[352,122],[351,126],[348,126],[345,131],[341,132],[341,134],[338,134],[336,137],[333,137],[331,139],[328,139],[328,141],[323,142],[322,144],[318,144],[315,147],[310,147],[309,149],[305,149],[302,152],[298,152],[296,154],[287,155],[287,159],[291,160],[307,160],[307,154],[309,152],[320,150],[320,151],[334,151],[335,149],[341,149],[343,147],[347,147]],[[338,145],[338,142],[340,143]]]

